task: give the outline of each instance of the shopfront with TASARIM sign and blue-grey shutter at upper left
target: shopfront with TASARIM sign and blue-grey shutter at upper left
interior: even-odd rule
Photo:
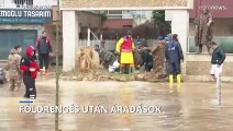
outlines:
[[[0,0],[0,60],[10,49],[35,46],[45,24],[53,22],[54,0]]]

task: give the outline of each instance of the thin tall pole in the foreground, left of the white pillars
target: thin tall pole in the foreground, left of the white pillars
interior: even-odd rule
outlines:
[[[56,106],[59,106],[59,0],[57,0],[57,19],[56,19]],[[59,112],[55,114],[55,131],[59,131]]]

